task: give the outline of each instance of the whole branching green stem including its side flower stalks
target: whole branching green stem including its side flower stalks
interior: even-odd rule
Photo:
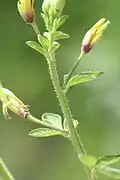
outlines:
[[[38,36],[40,34],[40,32],[38,30],[36,23],[33,25],[33,29]],[[50,31],[49,31],[49,33],[50,33],[50,36],[49,36],[49,42],[50,43],[49,43],[48,52],[46,52],[45,55],[46,55],[46,59],[47,59],[48,66],[49,66],[50,77],[51,77],[54,89],[56,91],[56,95],[57,95],[59,104],[61,106],[62,113],[63,113],[64,118],[66,119],[66,121],[68,123],[69,138],[70,138],[70,140],[74,146],[74,149],[78,155],[78,158],[79,158],[80,155],[86,153],[86,151],[83,147],[80,136],[78,135],[76,129],[74,128],[73,117],[72,117],[72,113],[71,113],[70,108],[69,108],[68,100],[67,100],[66,94],[65,94],[64,90],[62,89],[60,82],[59,82],[59,77],[58,77],[58,73],[57,73],[57,69],[56,69],[55,54],[50,52],[51,45],[54,41],[53,36],[52,36],[54,33],[50,32]],[[78,66],[80,59],[82,58],[83,54],[84,54],[83,52],[80,54],[79,58],[77,59],[77,62],[74,64],[73,68],[69,72],[67,81],[72,76],[73,72],[75,71],[76,67]],[[33,121],[33,122],[36,122],[36,123],[39,123],[43,126],[48,127],[48,124],[44,124],[43,122],[36,119],[32,115],[28,116],[28,119]],[[49,126],[49,128],[55,129],[55,127],[52,127],[52,126],[51,127]],[[61,131],[61,130],[59,130],[59,131]],[[65,133],[65,130],[64,130],[64,133]],[[68,133],[68,132],[66,132],[66,133]]]

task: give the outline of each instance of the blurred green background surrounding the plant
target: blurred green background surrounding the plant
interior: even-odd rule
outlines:
[[[37,22],[43,32],[41,4],[42,1],[36,0]],[[77,69],[78,72],[100,70],[105,74],[69,92],[70,106],[74,118],[79,120],[84,145],[95,156],[120,153],[119,7],[119,0],[67,1],[64,13],[70,18],[62,29],[70,34],[70,39],[61,41],[61,49],[57,53],[62,81],[62,76],[80,52],[86,30],[101,17],[111,21],[103,39],[84,57]],[[36,117],[44,112],[61,114],[45,59],[25,45],[26,40],[35,40],[36,36],[19,16],[15,0],[0,1],[0,22],[0,80],[4,87],[29,104]],[[59,136],[29,137],[29,131],[38,125],[13,113],[12,120],[6,121],[0,112],[0,156],[16,180],[87,179],[66,139]]]

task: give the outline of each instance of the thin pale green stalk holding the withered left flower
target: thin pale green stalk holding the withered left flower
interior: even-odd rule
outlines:
[[[31,121],[31,122],[34,122],[36,124],[39,124],[41,126],[44,126],[46,128],[50,128],[50,129],[53,129],[55,131],[60,131],[62,133],[65,133],[65,134],[68,134],[68,131],[64,130],[64,129],[60,129],[60,128],[57,128],[55,126],[52,126],[51,124],[48,124],[48,123],[45,123],[39,119],[37,119],[36,117],[32,116],[31,114],[27,116],[27,120]]]

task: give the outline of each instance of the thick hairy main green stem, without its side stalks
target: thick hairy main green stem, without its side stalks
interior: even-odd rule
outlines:
[[[59,77],[58,77],[57,70],[56,70],[56,63],[55,63],[54,55],[47,53],[46,58],[47,58],[47,62],[49,65],[52,83],[53,83],[54,89],[56,91],[56,95],[59,100],[61,110],[63,112],[64,118],[66,118],[66,121],[68,123],[71,142],[75,148],[77,155],[79,156],[81,154],[81,152],[85,153],[85,150],[83,148],[81,140],[78,139],[77,132],[73,125],[73,117],[72,117],[71,111],[69,109],[67,97],[60,86]]]

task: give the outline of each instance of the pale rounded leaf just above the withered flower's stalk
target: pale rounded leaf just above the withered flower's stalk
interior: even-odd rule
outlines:
[[[63,129],[62,119],[61,119],[61,116],[58,114],[44,113],[42,115],[42,120],[59,128],[59,129]]]

